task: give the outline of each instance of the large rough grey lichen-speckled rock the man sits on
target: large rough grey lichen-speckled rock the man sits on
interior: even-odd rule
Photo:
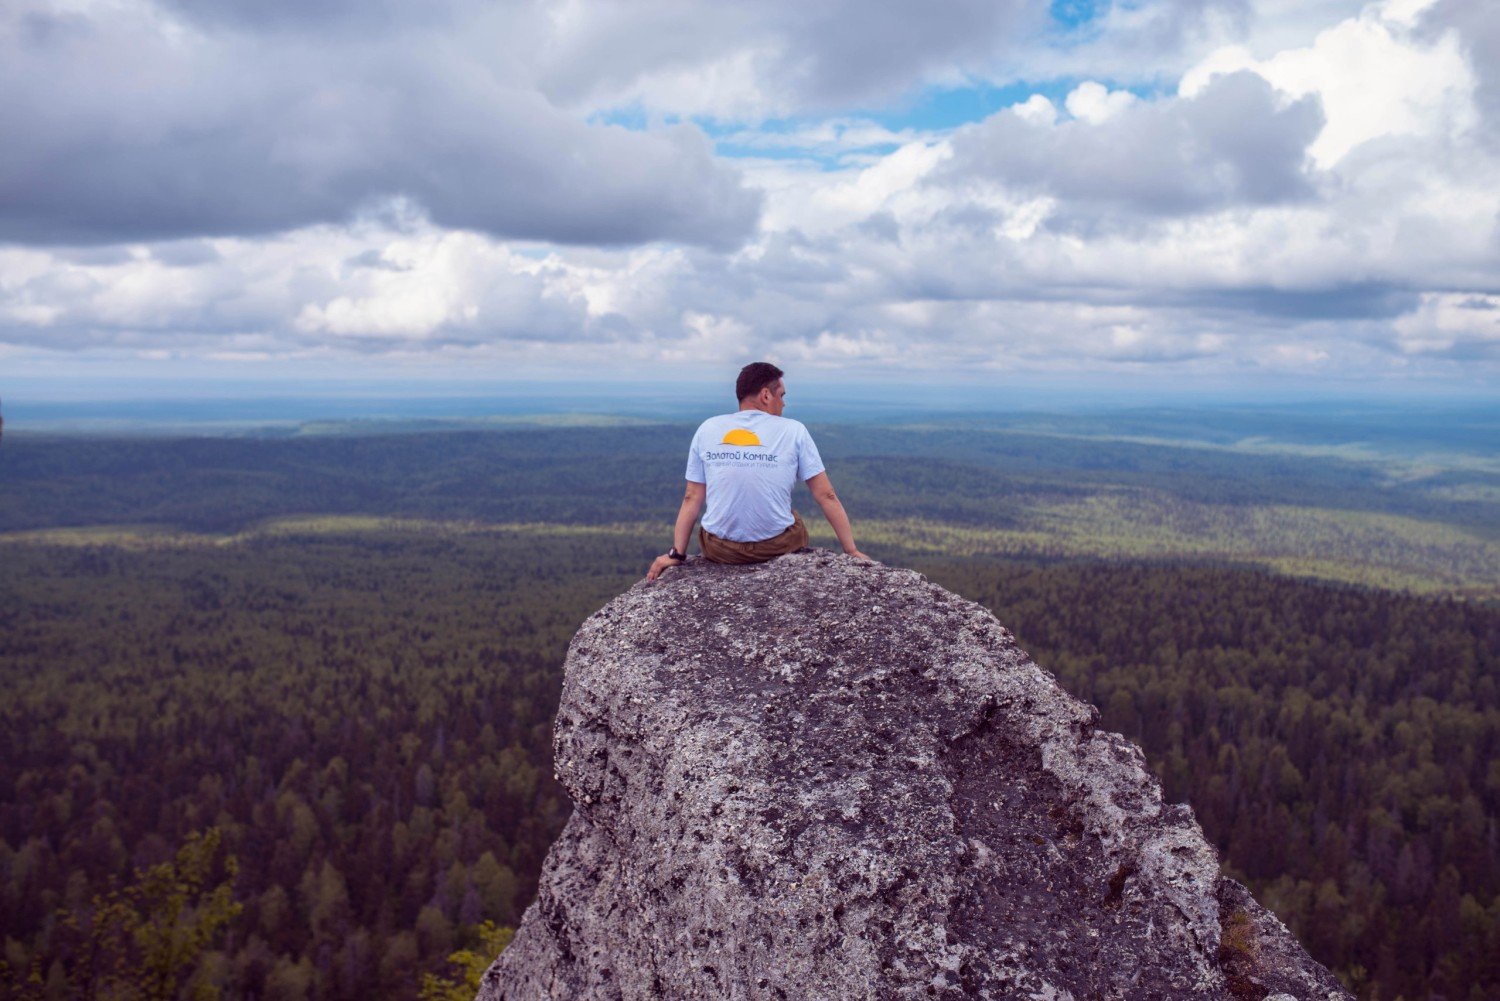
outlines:
[[[478,996],[1347,998],[1096,719],[909,570],[638,584],[573,639],[573,816]]]

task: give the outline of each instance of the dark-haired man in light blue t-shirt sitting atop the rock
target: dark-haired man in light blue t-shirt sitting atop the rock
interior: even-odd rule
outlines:
[[[786,384],[782,369],[754,362],[740,369],[735,393],[740,413],[710,417],[687,452],[687,492],[676,512],[672,549],[646,572],[687,560],[687,540],[698,515],[698,545],[714,563],[765,563],[807,545],[807,525],[792,510],[792,488],[806,480],[824,518],[852,557],[867,560],[854,545],[854,530],[801,422],[782,416]]]

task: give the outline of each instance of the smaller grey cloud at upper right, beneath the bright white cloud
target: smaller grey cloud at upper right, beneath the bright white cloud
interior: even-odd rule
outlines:
[[[1306,147],[1323,126],[1316,98],[1282,105],[1250,72],[1192,98],[1138,102],[1100,122],[1030,122],[1002,111],[958,132],[940,179],[1000,182],[1074,206],[1172,216],[1274,204],[1312,192]]]

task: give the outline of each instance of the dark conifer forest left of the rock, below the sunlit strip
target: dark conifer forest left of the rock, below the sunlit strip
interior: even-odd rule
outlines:
[[[6,549],[10,978],[68,996],[48,987],[74,935],[54,912],[212,824],[240,858],[226,995],[416,995],[534,896],[567,819],[550,764],[567,641],[651,549],[426,528]]]

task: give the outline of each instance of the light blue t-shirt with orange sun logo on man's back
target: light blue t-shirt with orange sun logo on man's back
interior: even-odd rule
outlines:
[[[730,542],[760,542],[786,531],[792,488],[822,471],[807,428],[764,410],[710,417],[687,452],[687,479],[708,485],[704,528]]]

